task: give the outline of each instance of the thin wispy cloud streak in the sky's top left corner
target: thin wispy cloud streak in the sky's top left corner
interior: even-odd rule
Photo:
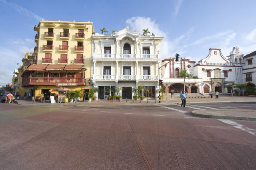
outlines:
[[[35,13],[29,11],[28,9],[26,9],[26,8],[20,6],[20,5],[17,5],[15,3],[7,2],[6,0],[0,0],[0,2],[12,7],[20,15],[24,15],[24,16],[36,19],[37,22],[39,22],[43,19],[42,17],[40,17],[40,16],[36,15]]]

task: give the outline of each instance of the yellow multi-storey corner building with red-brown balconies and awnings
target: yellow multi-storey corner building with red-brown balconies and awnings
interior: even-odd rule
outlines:
[[[90,89],[92,22],[42,20],[34,30],[36,46],[22,79],[27,96]]]

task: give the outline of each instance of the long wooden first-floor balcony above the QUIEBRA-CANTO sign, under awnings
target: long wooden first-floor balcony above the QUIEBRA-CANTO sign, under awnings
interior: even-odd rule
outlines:
[[[57,85],[57,83],[67,83],[64,86],[85,85],[84,78],[31,77],[26,79],[26,86]]]

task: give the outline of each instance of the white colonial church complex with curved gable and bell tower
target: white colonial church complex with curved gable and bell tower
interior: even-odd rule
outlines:
[[[228,58],[225,58],[221,53],[221,49],[209,49],[208,56],[198,61],[197,64],[195,61],[185,58],[181,58],[177,62],[172,61],[161,69],[164,90],[167,90],[168,93],[182,91],[184,79],[179,78],[178,73],[180,70],[187,69],[188,73],[193,75],[193,78],[186,79],[186,91],[188,93],[208,94],[210,90],[213,92],[218,91],[222,94],[231,93],[230,89],[224,87],[225,85],[229,83],[248,83],[249,79],[252,79],[253,76],[249,74],[253,74],[255,70],[254,72],[253,70],[249,71],[248,75],[245,70],[255,69],[256,67],[253,65],[247,66],[246,61],[244,61],[245,58],[251,60],[256,56],[256,52],[251,54],[243,58],[239,48],[234,47]],[[170,59],[162,60],[162,65],[165,65]],[[251,61],[247,63],[251,63]],[[245,79],[245,76],[250,76],[251,78]],[[251,83],[251,85],[255,87],[255,82],[254,84]]]

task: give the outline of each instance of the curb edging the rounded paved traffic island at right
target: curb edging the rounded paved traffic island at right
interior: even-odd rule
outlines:
[[[256,121],[256,118],[251,117],[237,117],[237,116],[217,116],[217,115],[209,115],[209,114],[200,114],[196,113],[196,111],[192,111],[192,115],[200,118],[213,118],[213,119],[233,119],[233,120],[250,120],[250,121]]]

